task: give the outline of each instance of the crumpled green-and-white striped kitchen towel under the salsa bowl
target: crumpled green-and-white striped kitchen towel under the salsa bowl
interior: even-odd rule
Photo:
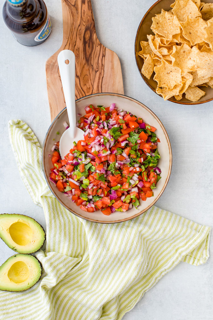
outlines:
[[[122,223],[97,224],[68,212],[42,171],[42,149],[21,120],[9,122],[20,175],[47,222],[41,280],[24,292],[0,292],[0,319],[121,319],[180,261],[209,257],[210,228],[153,206]]]

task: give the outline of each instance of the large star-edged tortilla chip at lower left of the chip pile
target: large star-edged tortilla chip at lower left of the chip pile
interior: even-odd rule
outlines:
[[[162,64],[154,68],[154,80],[157,81],[158,87],[166,87],[172,90],[175,86],[182,84],[181,69],[173,67],[168,62],[162,60]]]

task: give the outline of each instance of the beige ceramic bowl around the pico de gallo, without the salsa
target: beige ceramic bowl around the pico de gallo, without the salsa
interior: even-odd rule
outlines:
[[[83,97],[79,100],[76,100],[76,121],[78,121],[80,118],[80,116],[77,116],[78,114],[81,114],[82,116],[85,114],[84,108],[86,106],[93,104],[94,106],[103,105],[108,107],[111,103],[116,103],[118,109],[122,108],[123,110],[129,111],[137,117],[141,117],[145,123],[156,127],[156,135],[161,141],[158,143],[158,151],[161,156],[158,163],[158,166],[162,171],[161,179],[157,182],[156,189],[153,190],[154,196],[147,198],[146,201],[140,200],[140,206],[138,206],[137,209],[133,206],[133,208],[127,212],[115,211],[109,216],[104,215],[100,210],[95,212],[86,212],[81,210],[80,207],[73,203],[68,197],[64,196],[62,192],[59,192],[57,187],[55,187],[55,185],[49,180],[49,173],[50,168],[52,168],[52,163],[51,157],[48,155],[51,154],[51,148],[54,144],[53,139],[55,139],[55,141],[59,141],[62,133],[65,131],[65,127],[63,125],[64,121],[69,124],[66,108],[58,114],[58,116],[50,125],[43,143],[43,170],[45,179],[53,195],[67,210],[74,213],[78,217],[99,223],[115,223],[130,220],[148,210],[159,199],[166,188],[170,177],[172,164],[171,145],[163,124],[149,108],[133,98],[117,93],[96,93]],[[59,135],[57,132],[59,132]]]

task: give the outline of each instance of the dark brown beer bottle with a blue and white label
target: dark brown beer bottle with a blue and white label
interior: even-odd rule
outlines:
[[[6,0],[3,19],[14,38],[27,46],[46,40],[52,27],[43,0]]]

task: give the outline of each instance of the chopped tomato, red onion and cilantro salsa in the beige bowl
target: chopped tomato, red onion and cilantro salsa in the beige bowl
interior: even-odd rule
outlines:
[[[89,105],[78,126],[84,140],[61,159],[59,142],[51,149],[50,181],[80,209],[105,215],[126,212],[153,196],[160,179],[156,128],[115,103]],[[65,128],[68,125],[64,123]]]

